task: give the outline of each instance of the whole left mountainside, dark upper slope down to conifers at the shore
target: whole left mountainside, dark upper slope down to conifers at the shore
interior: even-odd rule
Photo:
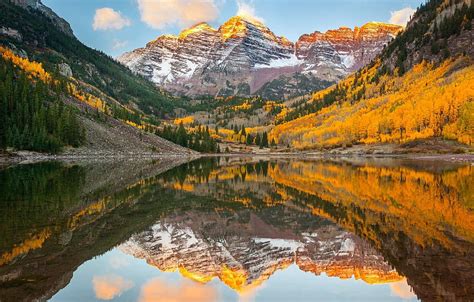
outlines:
[[[41,2],[21,3],[0,3],[1,149],[187,152],[156,135],[185,100],[83,45]]]

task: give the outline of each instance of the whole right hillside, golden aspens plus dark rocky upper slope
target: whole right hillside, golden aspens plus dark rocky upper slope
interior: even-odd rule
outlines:
[[[369,66],[277,118],[298,149],[440,137],[474,144],[474,6],[431,0]]]

